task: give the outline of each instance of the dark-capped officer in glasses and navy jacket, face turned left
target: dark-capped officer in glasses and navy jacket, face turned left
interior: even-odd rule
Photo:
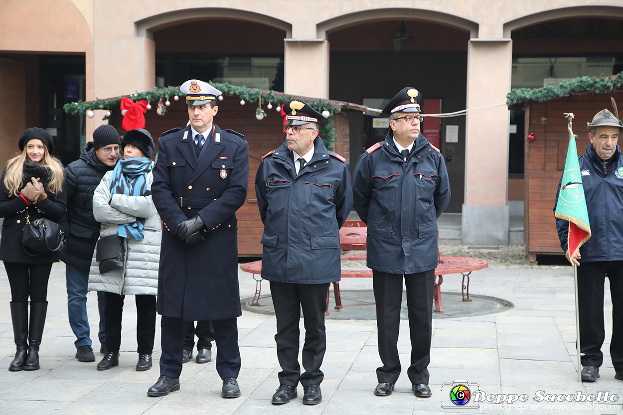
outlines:
[[[286,141],[264,156],[255,194],[264,222],[262,278],[270,281],[277,317],[277,358],[282,371],[273,404],[297,397],[322,401],[320,365],[325,355],[326,295],[340,280],[340,227],[353,206],[350,168],[318,136],[320,113],[300,100],[282,106]],[[303,368],[298,364],[298,324],[303,308]]]

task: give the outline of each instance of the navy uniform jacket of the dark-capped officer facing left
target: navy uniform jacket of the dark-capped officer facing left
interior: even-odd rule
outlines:
[[[346,159],[320,137],[298,176],[287,143],[264,156],[255,176],[264,222],[262,278],[294,284],[340,280],[340,227],[353,206]]]

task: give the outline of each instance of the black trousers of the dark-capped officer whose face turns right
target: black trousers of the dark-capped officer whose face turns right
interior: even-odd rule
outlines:
[[[398,333],[402,305],[403,275],[372,271],[379,355],[383,366],[376,370],[379,383],[396,383],[401,366]],[[412,384],[429,383],[430,340],[432,339],[432,301],[434,270],[404,275],[411,334],[411,366],[407,375]]]

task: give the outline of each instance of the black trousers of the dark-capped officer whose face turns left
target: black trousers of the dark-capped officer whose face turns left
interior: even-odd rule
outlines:
[[[270,293],[277,317],[277,358],[281,370],[279,384],[303,386],[320,384],[325,374],[320,370],[326,351],[325,311],[329,284],[289,284],[270,282]],[[305,344],[303,368],[298,364],[298,323],[303,308]]]

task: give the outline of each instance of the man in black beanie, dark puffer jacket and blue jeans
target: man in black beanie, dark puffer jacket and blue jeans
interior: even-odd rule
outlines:
[[[60,259],[67,265],[67,312],[69,325],[76,336],[74,344],[78,361],[95,361],[87,318],[88,272],[100,234],[100,222],[93,217],[93,192],[104,173],[115,168],[120,150],[121,140],[115,127],[100,125],[93,131],[93,141],[82,149],[80,158],[65,168],[67,214],[61,224],[65,227],[67,243]],[[100,353],[105,353],[103,293],[97,293],[97,300]]]

